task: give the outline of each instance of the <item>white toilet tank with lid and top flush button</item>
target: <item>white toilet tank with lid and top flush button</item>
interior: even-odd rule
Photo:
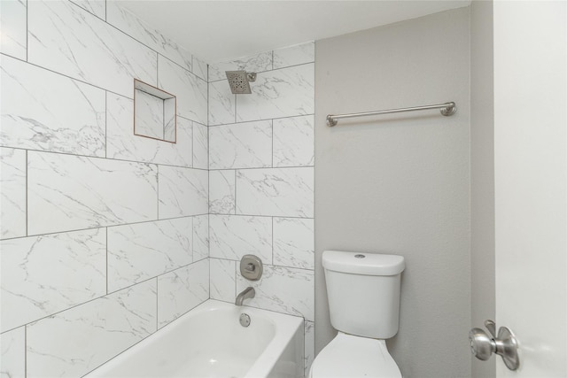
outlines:
[[[377,339],[396,335],[402,256],[324,251],[322,266],[333,328]]]

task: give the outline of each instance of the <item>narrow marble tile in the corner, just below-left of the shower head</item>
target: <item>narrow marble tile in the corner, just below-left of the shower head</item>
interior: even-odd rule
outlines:
[[[209,126],[236,121],[236,96],[230,91],[229,81],[209,83]]]

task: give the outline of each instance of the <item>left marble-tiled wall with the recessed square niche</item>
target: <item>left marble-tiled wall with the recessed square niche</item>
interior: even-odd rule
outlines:
[[[110,0],[0,7],[0,375],[82,376],[209,298],[207,65]]]

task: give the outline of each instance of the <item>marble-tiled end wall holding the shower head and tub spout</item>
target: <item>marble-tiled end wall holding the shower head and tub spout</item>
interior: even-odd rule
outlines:
[[[258,73],[233,95],[224,71]],[[306,372],[315,357],[315,43],[209,66],[210,296],[306,320]],[[260,281],[239,272],[245,254]]]

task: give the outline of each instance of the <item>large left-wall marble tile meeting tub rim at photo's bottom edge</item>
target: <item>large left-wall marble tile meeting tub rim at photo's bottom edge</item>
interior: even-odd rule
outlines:
[[[156,280],[27,326],[28,377],[78,377],[156,331]]]

